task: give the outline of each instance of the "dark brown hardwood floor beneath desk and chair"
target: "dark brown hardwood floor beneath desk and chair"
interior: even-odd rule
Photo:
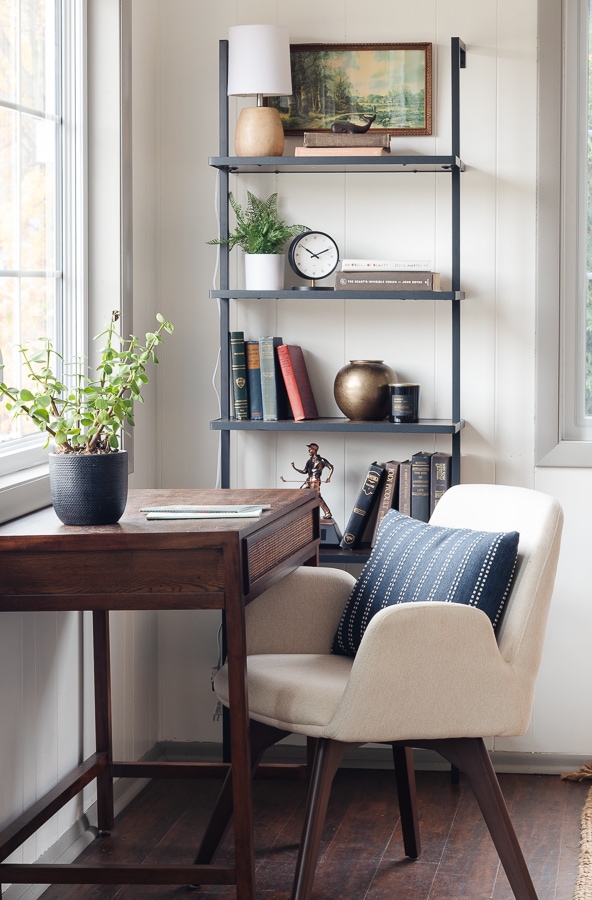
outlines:
[[[539,900],[571,900],[580,814],[590,782],[558,775],[499,776]],[[217,781],[158,780],[91,844],[89,862],[188,863],[216,797]],[[315,878],[314,900],[512,900],[472,792],[461,776],[417,773],[422,854],[403,855],[396,788],[387,770],[338,772]],[[257,897],[289,900],[306,785],[258,780],[254,788]],[[232,859],[227,838],[219,858]],[[234,897],[233,888],[54,885],[44,900],[196,900]]]

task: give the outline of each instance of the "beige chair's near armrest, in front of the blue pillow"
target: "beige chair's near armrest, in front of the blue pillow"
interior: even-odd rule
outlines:
[[[481,610],[400,604],[368,625],[328,736],[355,742],[523,734],[533,688],[534,677],[525,684],[502,658]]]

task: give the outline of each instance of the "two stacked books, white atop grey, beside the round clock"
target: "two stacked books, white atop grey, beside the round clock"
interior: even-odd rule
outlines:
[[[335,290],[439,291],[440,274],[424,259],[343,259]]]

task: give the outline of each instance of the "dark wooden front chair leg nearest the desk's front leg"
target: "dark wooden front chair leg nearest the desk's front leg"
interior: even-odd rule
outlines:
[[[309,900],[333,778],[351,744],[319,738],[306,800],[304,826],[292,887],[292,900]]]

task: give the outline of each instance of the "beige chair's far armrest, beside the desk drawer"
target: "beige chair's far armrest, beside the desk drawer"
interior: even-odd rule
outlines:
[[[249,603],[247,653],[330,653],[355,579],[301,566]]]

